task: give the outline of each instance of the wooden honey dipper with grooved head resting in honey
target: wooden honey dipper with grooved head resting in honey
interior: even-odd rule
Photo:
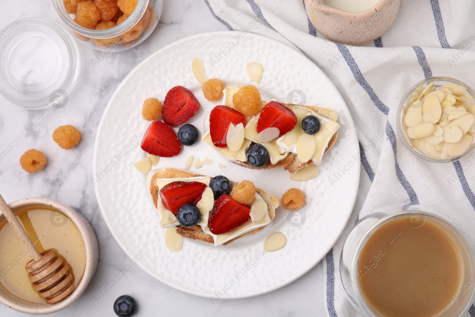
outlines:
[[[54,249],[40,254],[1,195],[0,210],[33,257],[25,267],[33,289],[45,298],[48,304],[55,304],[68,297],[75,287],[74,275],[66,260]]]

